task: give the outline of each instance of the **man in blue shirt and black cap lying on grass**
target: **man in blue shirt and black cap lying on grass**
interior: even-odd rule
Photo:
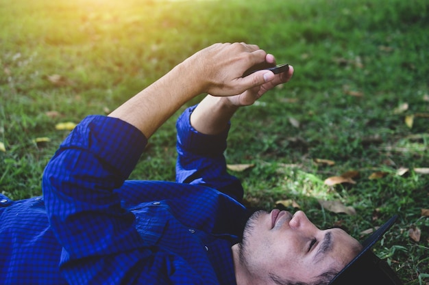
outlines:
[[[274,64],[256,45],[214,44],[85,118],[48,163],[43,198],[0,198],[4,284],[355,284],[368,272],[356,284],[400,284],[368,251],[393,220],[363,245],[302,211],[258,211],[243,232],[225,140],[239,107],[291,78],[293,67],[243,77]],[[201,93],[212,95],[177,120],[177,182],[127,180],[147,139]]]

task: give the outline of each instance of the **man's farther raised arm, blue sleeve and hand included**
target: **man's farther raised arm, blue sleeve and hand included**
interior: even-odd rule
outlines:
[[[273,55],[266,55],[265,62],[274,64]],[[273,80],[241,94],[208,95],[196,107],[186,109],[177,120],[176,181],[206,185],[241,201],[241,183],[228,174],[223,157],[228,122],[239,107],[252,105],[272,87],[288,81],[292,74],[290,67],[289,72],[277,74]]]

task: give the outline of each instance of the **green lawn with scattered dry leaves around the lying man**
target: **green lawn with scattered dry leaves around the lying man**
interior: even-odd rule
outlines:
[[[398,214],[376,254],[405,284],[428,284],[421,209],[429,208],[429,175],[413,170],[429,167],[428,1],[0,0],[0,13],[5,195],[40,195],[43,168],[68,133],[57,123],[111,111],[209,44],[256,43],[293,64],[295,75],[234,117],[225,155],[255,165],[234,173],[247,203],[295,200],[317,225],[341,224],[358,238]],[[177,116],[151,139],[132,178],[174,179]],[[400,167],[410,171],[398,176]],[[323,184],[350,170],[360,174],[356,184]],[[387,175],[369,179],[376,171]],[[332,213],[319,199],[357,215]],[[414,227],[418,242],[408,237]]]

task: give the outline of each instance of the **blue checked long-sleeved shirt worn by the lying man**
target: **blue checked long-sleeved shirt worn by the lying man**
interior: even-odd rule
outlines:
[[[88,116],[48,163],[43,197],[0,196],[1,284],[236,284],[231,246],[246,215],[225,169],[228,130],[177,120],[176,182],[127,180],[147,144]]]

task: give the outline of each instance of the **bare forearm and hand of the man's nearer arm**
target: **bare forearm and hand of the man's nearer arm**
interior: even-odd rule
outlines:
[[[231,96],[278,80],[266,70],[243,77],[246,70],[263,64],[266,58],[267,53],[253,44],[213,44],[188,57],[109,116],[136,126],[149,138],[177,109],[201,93]]]

